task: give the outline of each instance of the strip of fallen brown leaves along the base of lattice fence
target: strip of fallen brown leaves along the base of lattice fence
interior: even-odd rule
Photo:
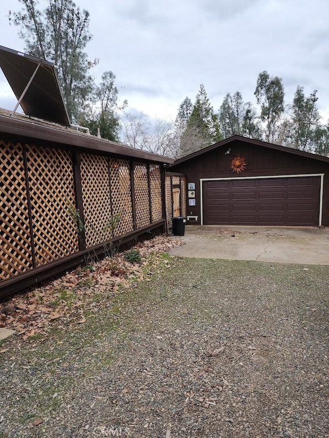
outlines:
[[[171,236],[157,236],[138,243],[141,262],[132,264],[124,252],[116,253],[33,289],[15,295],[0,304],[0,327],[11,328],[23,339],[39,340],[54,324],[86,321],[84,313],[97,312],[111,296],[137,281],[148,280],[155,271],[170,268],[170,260],[162,254],[182,241]]]

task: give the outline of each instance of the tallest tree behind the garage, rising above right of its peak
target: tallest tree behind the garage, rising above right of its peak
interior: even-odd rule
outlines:
[[[280,119],[284,113],[282,79],[270,77],[264,70],[258,76],[254,95],[261,105],[260,119],[265,123],[265,139],[274,142],[278,138]]]

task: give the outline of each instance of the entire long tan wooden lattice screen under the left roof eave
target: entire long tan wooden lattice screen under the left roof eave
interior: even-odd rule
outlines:
[[[0,159],[0,280],[164,219],[158,164],[5,141]]]

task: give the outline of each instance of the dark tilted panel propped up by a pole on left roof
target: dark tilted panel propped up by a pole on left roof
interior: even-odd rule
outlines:
[[[27,116],[70,125],[53,63],[0,46],[0,67],[17,98],[16,108],[20,104]]]

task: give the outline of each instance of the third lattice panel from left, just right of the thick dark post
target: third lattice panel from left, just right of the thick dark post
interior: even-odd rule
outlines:
[[[112,239],[111,197],[107,158],[101,155],[81,154],[81,184],[86,245],[97,245]]]

